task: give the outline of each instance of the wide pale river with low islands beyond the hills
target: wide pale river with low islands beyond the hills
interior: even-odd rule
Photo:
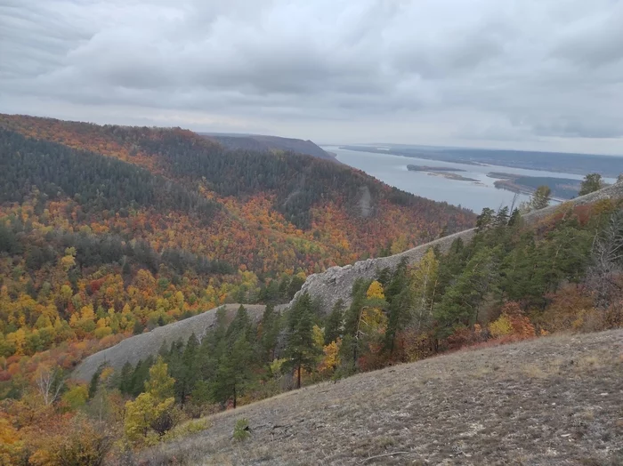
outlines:
[[[435,201],[445,201],[453,205],[461,205],[480,213],[484,207],[498,209],[505,205],[512,205],[514,193],[506,189],[497,189],[496,181],[487,176],[490,172],[517,173],[530,176],[551,176],[555,178],[572,178],[581,180],[583,177],[570,173],[554,173],[540,170],[524,170],[496,165],[465,165],[423,158],[393,156],[391,154],[376,154],[374,152],[359,152],[339,149],[337,146],[323,146],[322,149],[333,152],[337,160],[351,165],[354,168],[374,176],[380,181],[403,189],[417,196],[428,197]],[[465,170],[456,172],[473,181],[456,181],[433,176],[425,172],[409,172],[407,165],[447,166]],[[519,195],[517,203],[528,200],[528,196]]]

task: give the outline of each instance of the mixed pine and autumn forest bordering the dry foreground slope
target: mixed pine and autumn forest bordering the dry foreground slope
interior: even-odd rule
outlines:
[[[620,327],[621,247],[621,205],[608,199],[536,225],[519,211],[485,212],[471,243],[377,270],[355,282],[349,306],[326,312],[304,293],[283,312],[266,306],[259,322],[244,306],[231,317],[222,308],[205,335],[118,373],[101,366],[88,384],[40,372],[36,390],[4,401],[4,435],[14,438],[5,457],[132,464],[144,446],[208,428],[206,414],[285,390],[445,351]],[[44,421],[53,427],[42,437]]]

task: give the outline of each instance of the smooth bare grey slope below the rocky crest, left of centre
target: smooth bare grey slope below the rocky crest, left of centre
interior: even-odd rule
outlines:
[[[233,316],[239,306],[239,304],[225,304],[228,317]],[[264,306],[246,304],[245,308],[251,317],[259,318],[262,316]],[[101,350],[85,358],[76,367],[72,377],[88,381],[102,363],[114,367],[117,371],[121,370],[126,362],[134,366],[141,359],[157,354],[164,342],[168,345],[177,340],[186,342],[192,333],[195,333],[200,340],[206,331],[215,324],[215,317],[216,309],[210,309],[197,316],[127,338],[107,350]]]

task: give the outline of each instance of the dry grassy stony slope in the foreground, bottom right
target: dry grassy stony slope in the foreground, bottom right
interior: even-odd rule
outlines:
[[[251,438],[231,441],[246,418]],[[210,417],[160,464],[623,464],[623,331],[461,351]]]

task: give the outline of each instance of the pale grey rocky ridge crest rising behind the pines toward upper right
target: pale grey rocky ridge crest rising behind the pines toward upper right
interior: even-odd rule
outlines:
[[[623,198],[623,183],[619,182],[608,188],[588,194],[587,196],[572,199],[562,205],[552,205],[546,209],[529,213],[523,218],[525,221],[535,223],[545,218],[547,215],[559,210],[565,210],[572,205],[591,204],[600,199],[621,198]],[[332,267],[325,272],[308,277],[301,290],[295,294],[293,301],[302,293],[310,293],[312,298],[320,300],[323,312],[328,313],[339,299],[342,299],[346,305],[350,304],[352,284],[358,277],[372,279],[376,277],[377,272],[381,269],[395,269],[403,257],[408,259],[409,264],[417,263],[431,247],[438,245],[442,252],[446,252],[455,239],[460,237],[464,242],[469,242],[475,233],[475,229],[467,229],[450,235],[449,237],[442,237],[431,243],[419,245],[404,253],[378,259],[368,259],[367,261],[359,261],[355,262],[353,265],[346,265],[344,267]],[[282,309],[287,308],[287,306],[289,306],[289,304],[282,306]]]

